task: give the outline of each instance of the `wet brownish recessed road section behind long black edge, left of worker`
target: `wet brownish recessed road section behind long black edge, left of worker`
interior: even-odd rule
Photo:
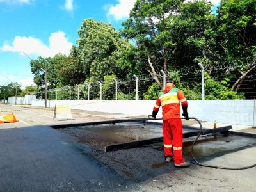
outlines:
[[[58,129],[77,138],[79,143],[104,147],[115,143],[145,140],[162,136],[161,129],[144,124],[118,124]]]

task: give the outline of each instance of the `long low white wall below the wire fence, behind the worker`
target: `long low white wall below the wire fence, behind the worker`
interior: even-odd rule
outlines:
[[[188,100],[189,116],[225,124],[253,125],[253,100]],[[48,107],[69,105],[72,109],[100,111],[108,113],[123,113],[127,115],[150,115],[155,100],[90,100],[70,101],[52,100]],[[32,106],[45,106],[45,101],[32,101]],[[181,110],[182,111],[182,110]],[[161,108],[157,116],[161,118]],[[254,115],[256,122],[256,114]]]

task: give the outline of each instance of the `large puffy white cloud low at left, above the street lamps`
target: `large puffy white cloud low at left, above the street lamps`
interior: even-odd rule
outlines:
[[[72,43],[68,42],[65,37],[65,33],[62,31],[54,32],[49,37],[49,46],[45,45],[38,38],[31,36],[15,36],[12,44],[6,42],[3,47],[0,47],[1,51],[10,52],[26,52],[28,55],[52,57],[55,54],[62,53],[68,56]]]

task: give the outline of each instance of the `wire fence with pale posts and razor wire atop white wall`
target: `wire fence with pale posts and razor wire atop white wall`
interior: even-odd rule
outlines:
[[[174,80],[175,86],[188,99],[255,99],[254,60],[248,64],[248,68],[252,68],[250,74],[244,77],[241,74],[242,79],[238,78],[239,68],[234,67],[234,63],[223,63],[214,68],[198,65],[167,74],[161,70],[157,78],[162,87],[150,74],[134,75],[129,79],[95,81],[47,90],[47,100],[154,100],[164,87],[166,79]],[[45,100],[45,91],[31,94],[35,95],[36,100]]]

